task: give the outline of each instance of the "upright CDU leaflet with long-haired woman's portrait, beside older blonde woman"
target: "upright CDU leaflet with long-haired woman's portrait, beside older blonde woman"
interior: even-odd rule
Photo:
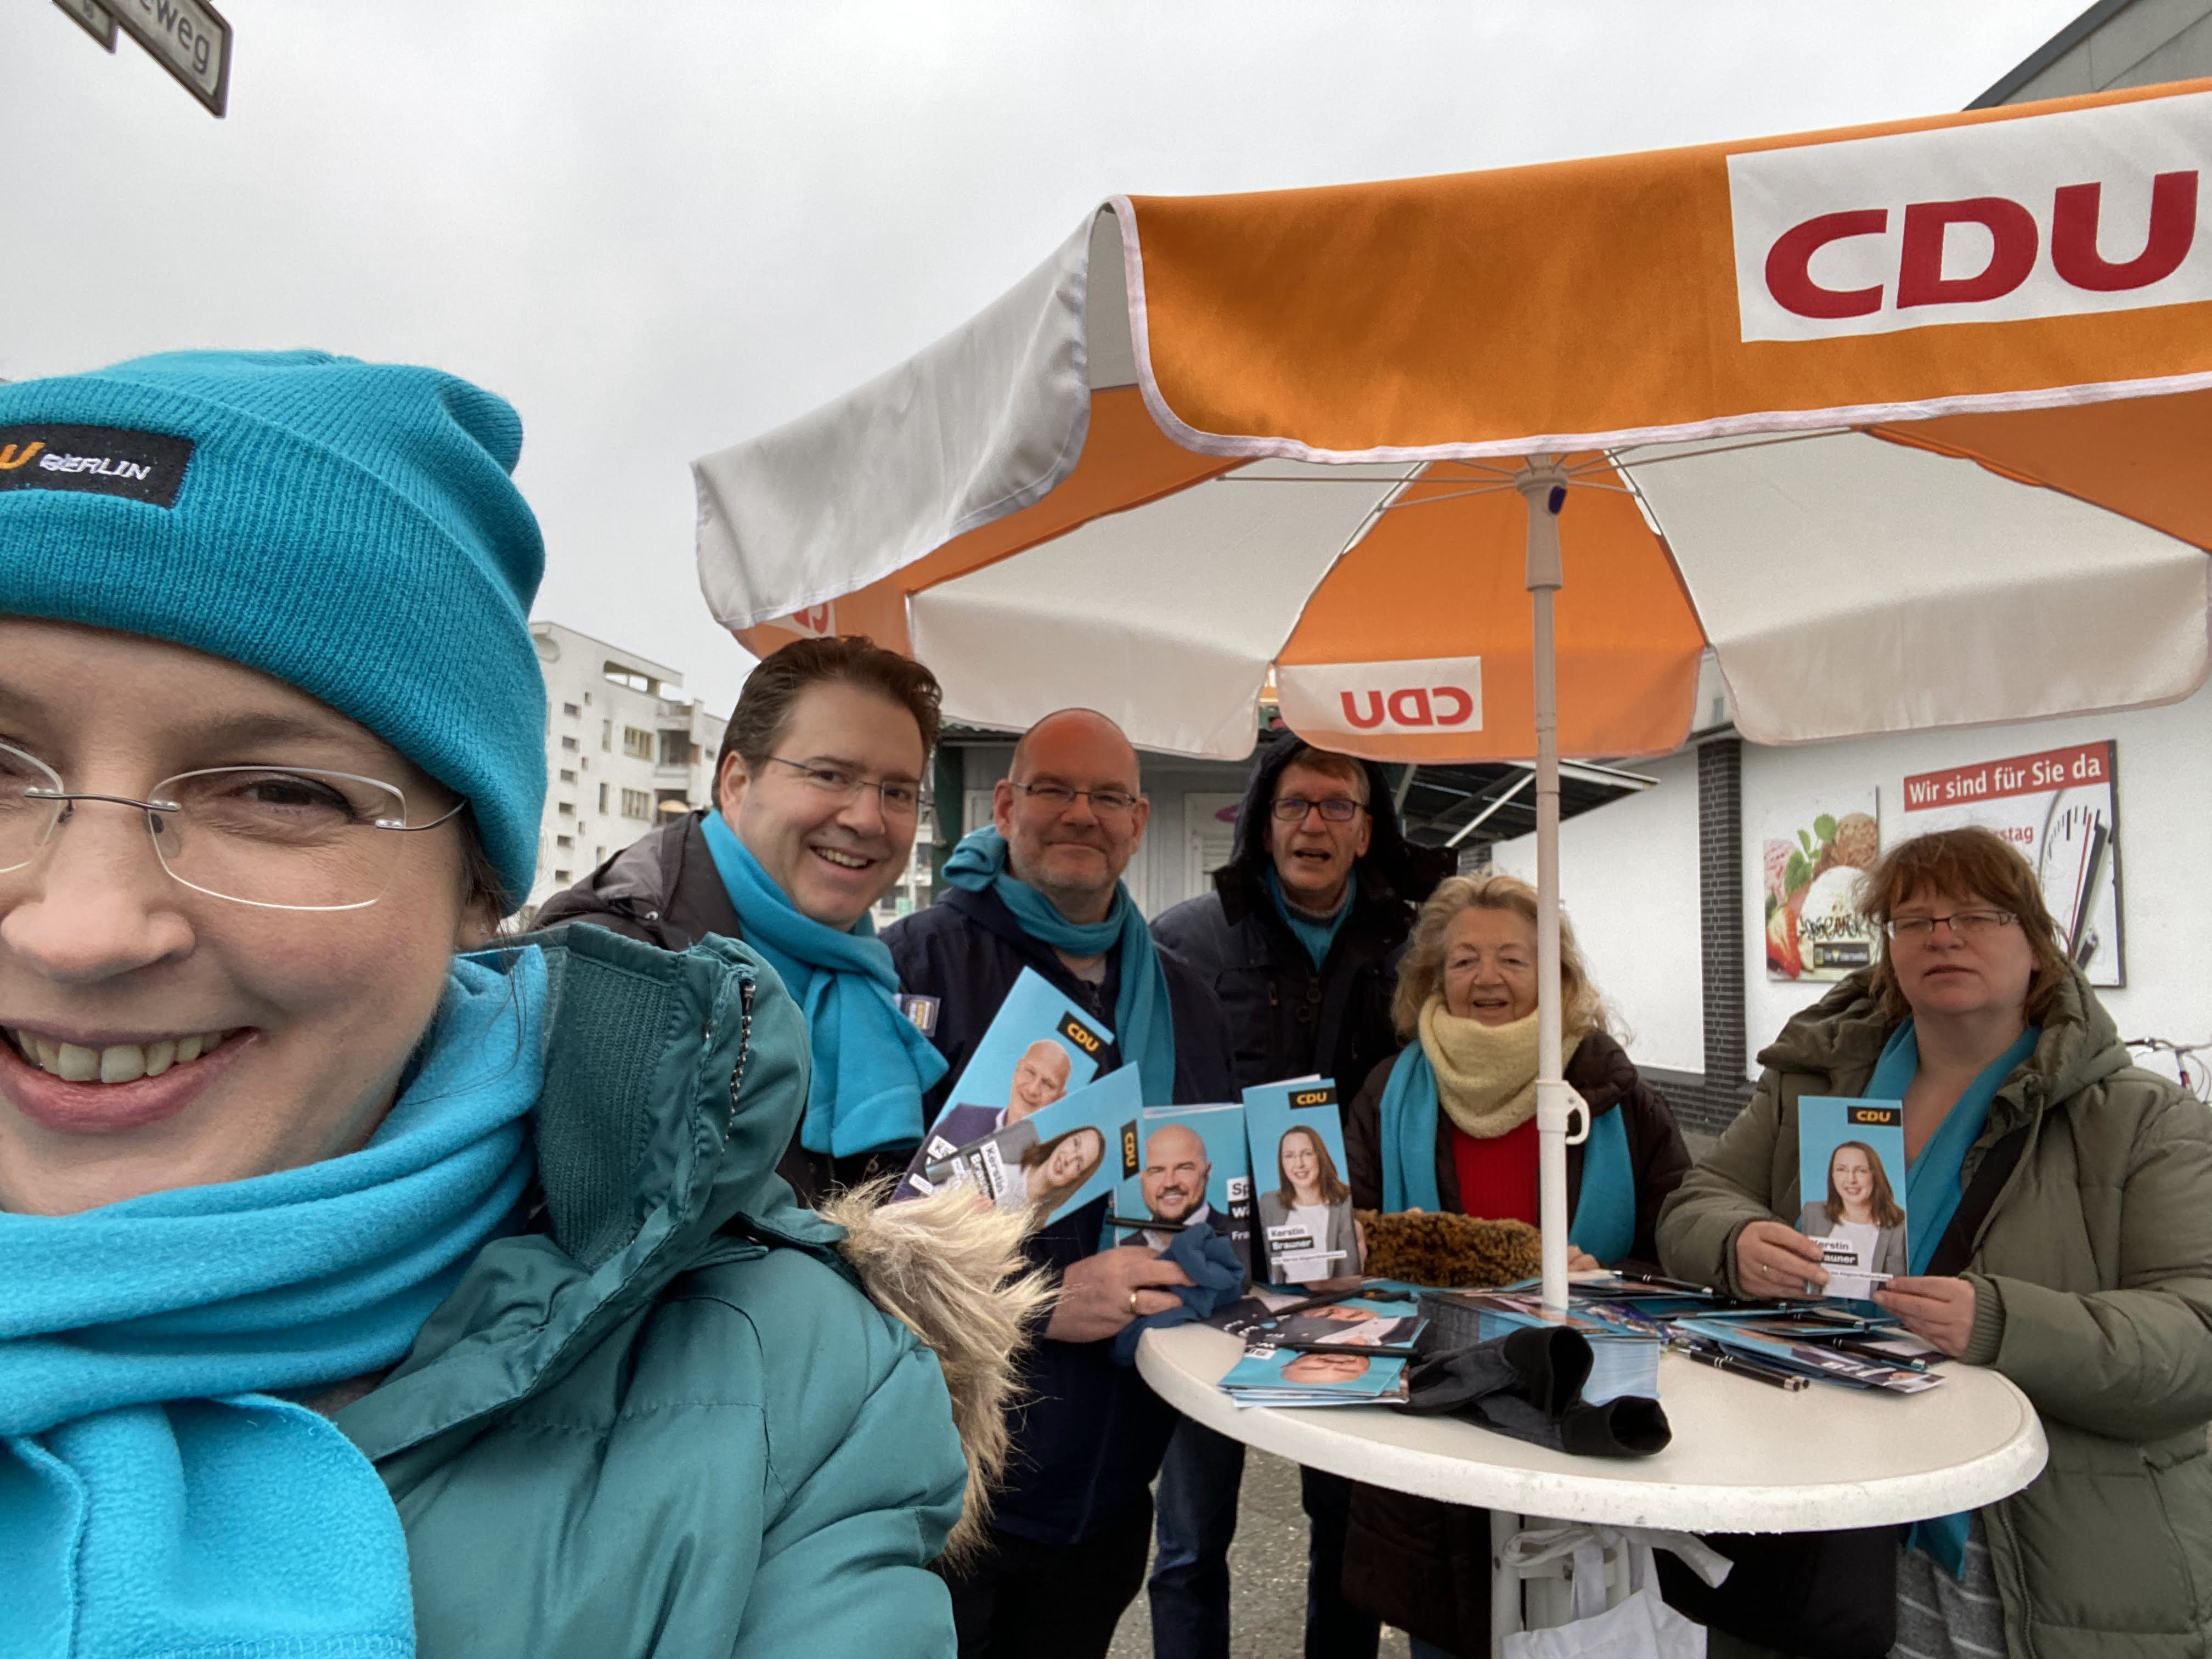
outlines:
[[[1312,1285],[1360,1270],[1345,1126],[1336,1084],[1292,1077],[1245,1091],[1256,1214],[1252,1272],[1270,1285]]]

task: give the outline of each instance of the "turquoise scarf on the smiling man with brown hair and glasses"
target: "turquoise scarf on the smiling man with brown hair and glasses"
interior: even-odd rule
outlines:
[[[867,916],[841,933],[799,911],[719,812],[703,827],[745,945],[807,1018],[814,1075],[799,1144],[830,1157],[918,1146],[922,1095],[945,1075],[945,1055],[898,1011],[891,947]]]

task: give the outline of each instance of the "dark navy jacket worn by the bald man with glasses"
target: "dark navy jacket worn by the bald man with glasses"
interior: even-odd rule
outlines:
[[[898,982],[914,995],[940,998],[931,1042],[949,1071],[925,1102],[925,1117],[951,1093],[1024,967],[1113,1026],[1119,953],[1106,958],[1104,987],[1084,984],[1051,947],[1022,931],[995,894],[956,887],[887,927],[883,940]],[[1161,951],[1159,962],[1175,1018],[1175,1104],[1237,1099],[1221,1004],[1172,951]],[[1117,1064],[1117,1053],[1099,1062],[1102,1071]],[[1031,1261],[1060,1274],[1095,1254],[1108,1201],[1086,1203],[1031,1234]],[[1113,1363],[1110,1347],[1044,1338],[1031,1345],[1022,1376],[1031,1398],[1013,1422],[1013,1458],[993,1526],[1040,1544],[1082,1544],[1144,1502],[1177,1416],[1133,1367]]]

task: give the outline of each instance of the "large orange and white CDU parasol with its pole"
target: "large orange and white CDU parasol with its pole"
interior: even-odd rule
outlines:
[[[1763,743],[2203,681],[2208,177],[2185,82],[1115,197],[922,354],[699,460],[701,586],[757,653],[909,650],[980,726],[1086,703],[1241,757],[1272,681],[1329,748],[1535,757],[1551,918],[1557,757],[1677,748],[1705,648]]]

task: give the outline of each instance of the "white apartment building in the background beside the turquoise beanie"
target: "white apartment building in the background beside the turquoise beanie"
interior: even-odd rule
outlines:
[[[533,622],[546,677],[546,810],[529,911],[650,830],[706,805],[728,714],[684,675],[560,622]]]

